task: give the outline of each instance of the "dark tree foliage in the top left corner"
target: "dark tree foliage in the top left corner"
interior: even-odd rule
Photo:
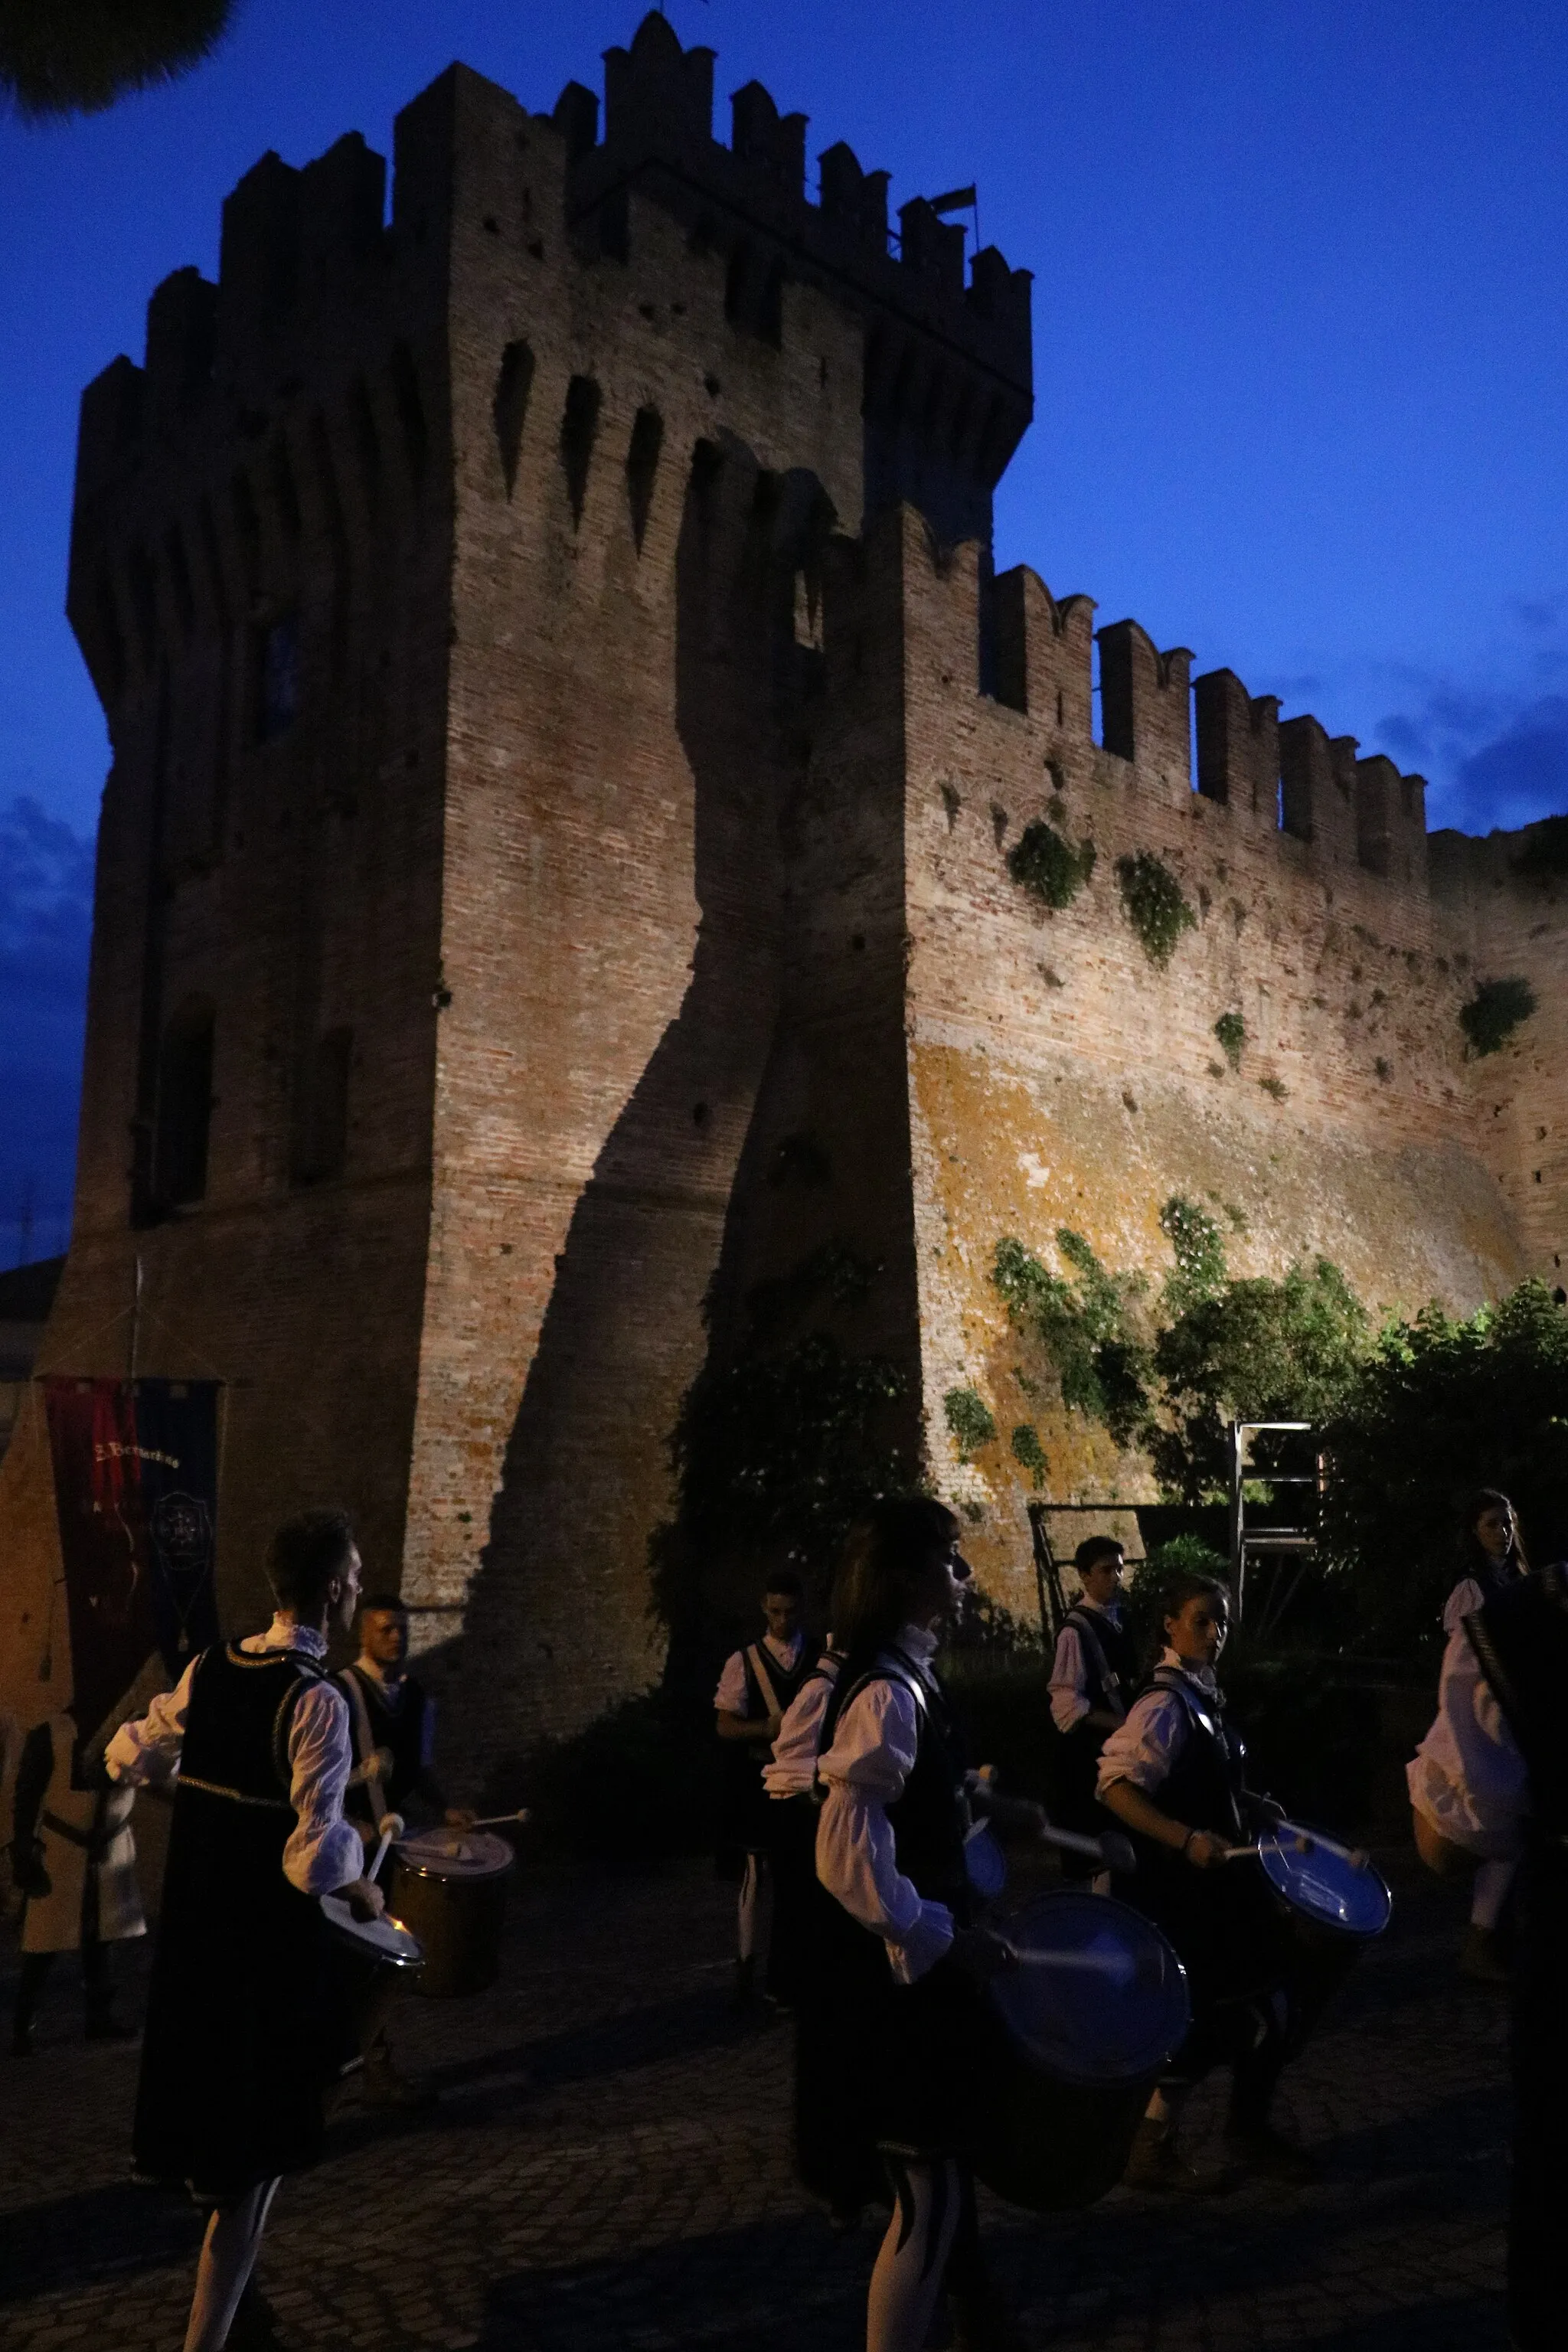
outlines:
[[[233,0],[0,0],[0,94],[42,122],[94,115],[209,56]]]

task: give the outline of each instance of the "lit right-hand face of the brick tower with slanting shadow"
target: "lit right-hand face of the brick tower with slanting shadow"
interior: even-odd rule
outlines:
[[[743,332],[635,195],[618,252],[574,247],[562,132],[475,75],[418,115],[454,186],[456,560],[404,1592],[425,1649],[463,1625],[489,1752],[503,1696],[576,1729],[661,1665],[646,1541],[778,1021],[795,600],[858,524],[860,332],[797,287],[778,346]]]

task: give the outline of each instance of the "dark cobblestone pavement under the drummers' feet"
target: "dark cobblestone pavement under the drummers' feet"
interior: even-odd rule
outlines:
[[[1455,1980],[1455,1900],[1382,1860],[1394,1926],[1281,2100],[1324,2183],[1051,2220],[985,2201],[1027,2345],[1497,2352],[1505,2009]],[[524,1879],[496,1990],[397,2011],[440,2105],[383,2122],[348,2093],[280,2192],[275,2340],[853,2352],[877,2232],[835,2241],[792,2183],[790,2034],[729,2009],[729,1905],[698,1867]],[[35,2058],[0,2058],[5,2352],[181,2343],[200,2220],[127,2180],[134,2082],[134,2049],[80,2042],[61,1964]]]

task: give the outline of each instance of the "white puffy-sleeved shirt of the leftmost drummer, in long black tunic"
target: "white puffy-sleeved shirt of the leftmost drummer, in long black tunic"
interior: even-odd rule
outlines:
[[[306,1625],[273,1618],[266,1632],[249,1635],[240,1649],[296,1649],[313,1658],[327,1656],[327,1644]],[[193,1658],[176,1689],[155,1698],[141,1722],[120,1724],[103,1762],[110,1780],[132,1785],[169,1783],[179,1776],[179,1752],[190,1712]],[[289,1719],[289,1804],[299,1816],[282,1849],[282,1872],[303,1896],[329,1896],[353,1884],[364,1870],[364,1846],[353,1823],[343,1820],[343,1790],[353,1771],[348,1700],[329,1679],[308,1684]]]

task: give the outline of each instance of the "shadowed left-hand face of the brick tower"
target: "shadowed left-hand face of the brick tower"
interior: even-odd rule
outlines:
[[[82,402],[71,619],[115,764],[73,1242],[38,1369],[226,1383],[230,1625],[266,1611],[284,1512],[346,1503],[374,1581],[404,1536],[451,534],[440,263],[388,238],[381,188],[360,139],[306,172],[263,160],[228,200],[221,285],[176,273],[146,367],[115,360]],[[212,1021],[207,1169],[174,1204],[160,1089],[190,1018]],[[346,1061],[327,1164],[324,1054]],[[7,1682],[35,1712],[59,1573],[42,1442],[12,1449],[0,1524]]]

